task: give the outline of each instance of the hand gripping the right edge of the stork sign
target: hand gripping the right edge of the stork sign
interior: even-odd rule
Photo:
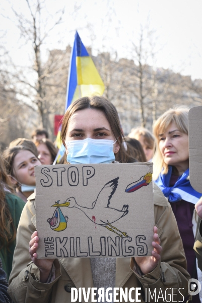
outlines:
[[[134,258],[144,275],[151,273],[161,259],[162,247],[160,245],[161,241],[157,234],[157,230],[157,227],[154,226],[154,242],[152,242],[154,250],[152,250],[152,256]]]

